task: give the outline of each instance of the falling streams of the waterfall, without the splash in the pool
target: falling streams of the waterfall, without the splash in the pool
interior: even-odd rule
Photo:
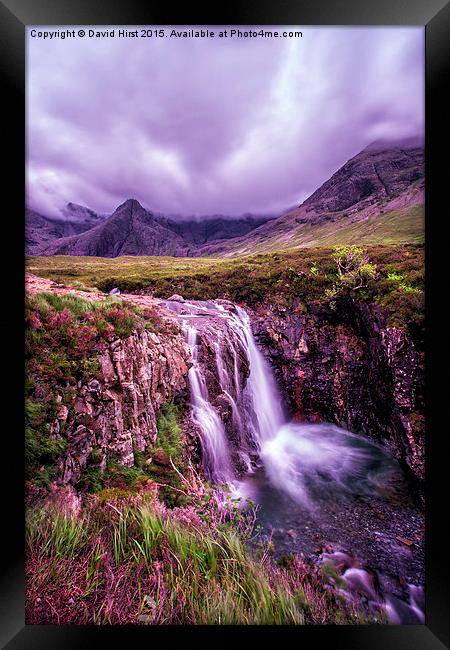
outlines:
[[[190,310],[183,318],[191,348],[192,367],[188,382],[191,396],[191,412],[202,438],[204,467],[207,475],[218,483],[233,483],[236,478],[233,454],[239,457],[247,472],[252,471],[250,449],[261,452],[265,441],[271,440],[284,418],[281,399],[269,364],[258,350],[253,337],[250,319],[240,307],[223,304],[184,303]],[[205,325],[208,321],[216,324]],[[214,320],[215,319],[215,320]],[[213,405],[205,378],[205,368],[199,360],[202,337],[207,338],[214,350],[215,372],[221,395],[228,402],[232,413],[232,427],[238,448],[230,449],[229,435],[219,413]],[[228,368],[225,355],[231,356]],[[250,374],[242,388],[239,375],[239,355],[246,359]]]

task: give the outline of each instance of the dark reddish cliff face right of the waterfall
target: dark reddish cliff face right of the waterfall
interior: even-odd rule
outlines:
[[[252,325],[294,418],[370,436],[422,483],[423,353],[403,328],[350,299],[334,310],[260,305]]]

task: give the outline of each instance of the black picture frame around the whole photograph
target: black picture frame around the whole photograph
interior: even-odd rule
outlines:
[[[172,15],[171,15],[172,13]],[[437,370],[445,369],[446,320],[441,315],[447,292],[438,289],[445,279],[446,244],[441,234],[445,213],[440,199],[445,191],[446,105],[443,101],[449,60],[450,7],[444,0],[358,0],[335,3],[289,1],[233,2],[213,9],[197,9],[192,3],[171,12],[163,3],[96,3],[81,0],[3,0],[0,2],[0,57],[4,112],[2,193],[4,235],[4,299],[0,317],[3,359],[2,495],[3,541],[1,563],[1,647],[88,648],[111,643],[182,643],[208,641],[217,635],[230,643],[255,643],[255,628],[240,627],[109,627],[39,626],[24,623],[24,471],[23,471],[23,301],[24,301],[24,164],[25,164],[25,28],[28,25],[423,25],[426,38],[426,619],[417,626],[305,626],[264,627],[257,635],[269,643],[289,640],[309,648],[358,650],[438,650],[450,645],[449,569],[445,553],[446,518],[449,512],[446,465],[449,458],[445,431],[445,381]],[[5,142],[5,139],[7,143]],[[439,155],[441,154],[441,156]],[[1,286],[1,285],[0,285]],[[445,285],[444,285],[445,286]],[[442,304],[444,303],[444,304]],[[447,367],[449,367],[447,365]],[[445,379],[445,377],[444,377]],[[441,415],[442,414],[442,415]],[[9,423],[7,424],[7,416]],[[442,419],[441,419],[442,418]],[[282,638],[280,638],[280,636]],[[269,638],[271,637],[271,638]],[[259,642],[259,641],[257,641]]]

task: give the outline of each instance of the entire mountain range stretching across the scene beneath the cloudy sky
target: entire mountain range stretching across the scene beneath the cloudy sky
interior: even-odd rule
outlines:
[[[419,242],[423,143],[378,140],[279,217],[168,218],[128,199],[109,216],[68,203],[66,221],[28,211],[31,255],[235,256],[291,247]]]

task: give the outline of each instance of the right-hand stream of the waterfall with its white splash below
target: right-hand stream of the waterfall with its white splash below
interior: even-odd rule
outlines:
[[[244,416],[272,485],[309,509],[320,505],[330,486],[340,498],[385,488],[397,467],[379,447],[334,425],[286,421],[272,369],[256,345],[247,313],[240,307],[221,311],[249,359]]]

